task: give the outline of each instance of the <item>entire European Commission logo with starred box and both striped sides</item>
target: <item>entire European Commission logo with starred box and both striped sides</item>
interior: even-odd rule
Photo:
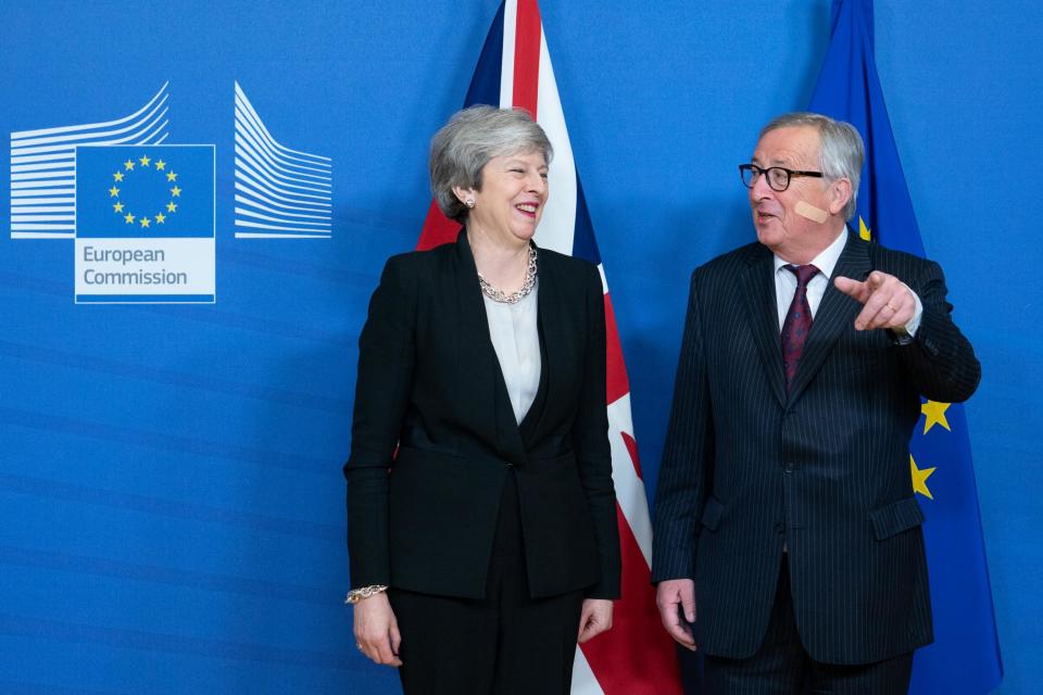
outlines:
[[[11,238],[75,239],[77,304],[215,302],[215,148],[168,143],[168,102],[11,134]],[[277,141],[238,83],[234,131],[236,238],[329,239],[330,157]]]

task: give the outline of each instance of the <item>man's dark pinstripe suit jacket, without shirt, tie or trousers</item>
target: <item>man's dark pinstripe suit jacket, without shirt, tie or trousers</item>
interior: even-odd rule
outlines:
[[[938,264],[850,235],[833,277],[881,270],[920,298],[910,344],[857,331],[832,278],[789,394],[772,253],[754,243],[692,275],[655,504],[653,581],[694,578],[699,647],[754,655],[788,546],[808,655],[868,664],[932,641],[908,441],[920,395],[957,402],[980,366]]]

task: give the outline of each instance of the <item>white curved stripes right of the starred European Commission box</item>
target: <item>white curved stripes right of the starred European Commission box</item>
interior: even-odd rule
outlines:
[[[236,83],[236,238],[328,239],[332,160],[279,144]]]

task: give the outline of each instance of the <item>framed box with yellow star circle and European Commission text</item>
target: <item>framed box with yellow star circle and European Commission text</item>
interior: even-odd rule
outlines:
[[[215,301],[214,147],[76,149],[76,303]]]

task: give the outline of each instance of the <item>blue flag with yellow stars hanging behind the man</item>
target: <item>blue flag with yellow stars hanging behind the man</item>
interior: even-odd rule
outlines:
[[[810,111],[853,124],[865,140],[854,231],[922,256],[877,76],[872,20],[872,0],[833,0],[832,34]],[[963,406],[925,402],[909,451],[913,488],[927,518],[934,615],[934,644],[917,652],[909,692],[988,693],[1003,680],[1003,666]]]

